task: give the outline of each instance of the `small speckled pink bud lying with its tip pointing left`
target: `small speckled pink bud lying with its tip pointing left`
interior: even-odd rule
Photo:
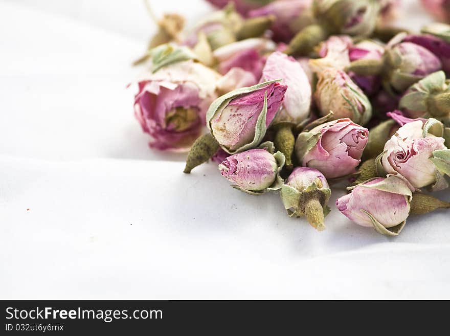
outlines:
[[[220,165],[220,174],[234,183],[233,188],[259,195],[267,190],[278,190],[283,184],[280,170],[284,165],[284,155],[271,142],[261,144],[261,148],[250,149],[228,156]]]

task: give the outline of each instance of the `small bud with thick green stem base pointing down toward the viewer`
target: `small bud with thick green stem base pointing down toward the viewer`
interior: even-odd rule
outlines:
[[[289,216],[306,216],[313,228],[325,229],[324,217],[331,190],[325,176],[317,169],[295,168],[281,187],[281,199]]]

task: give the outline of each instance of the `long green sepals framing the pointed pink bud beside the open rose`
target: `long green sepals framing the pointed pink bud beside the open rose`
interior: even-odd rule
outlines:
[[[254,91],[256,91],[260,88],[263,88],[269,84],[279,82],[279,81],[281,81],[281,79],[271,80],[271,81],[267,81],[267,82],[256,84],[256,85],[249,86],[249,87],[241,87],[232,92],[224,94],[223,96],[220,96],[215,101],[213,101],[213,103],[210,105],[208,112],[206,114],[206,125],[208,126],[209,130],[211,131],[211,134],[214,135],[213,129],[211,127],[211,120],[213,120],[214,116],[217,113],[220,113],[225,107],[227,107],[227,105],[230,103],[231,100],[233,100],[234,98],[236,98],[240,95],[254,92]],[[245,144],[235,150],[227,148],[226,146],[221,145],[221,144],[220,144],[220,147],[222,147],[222,149],[229,154],[235,154],[235,153],[242,152],[244,150],[256,147],[261,142],[261,140],[264,138],[265,133],[267,131],[267,127],[265,125],[266,116],[267,116],[267,92],[264,95],[264,105],[262,107],[262,111],[259,114],[258,119],[256,121],[255,137],[253,138],[253,141],[251,143]]]

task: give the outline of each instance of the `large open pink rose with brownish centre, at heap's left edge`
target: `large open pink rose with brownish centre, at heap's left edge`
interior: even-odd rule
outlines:
[[[200,135],[206,111],[216,98],[220,75],[206,66],[184,61],[147,73],[139,80],[134,114],[153,140],[150,147],[185,151]]]

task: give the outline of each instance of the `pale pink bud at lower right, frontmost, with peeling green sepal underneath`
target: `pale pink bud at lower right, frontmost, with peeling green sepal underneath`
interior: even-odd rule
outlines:
[[[336,200],[339,211],[358,225],[398,235],[410,213],[412,199],[411,190],[400,178],[377,177],[348,189],[351,193]]]

